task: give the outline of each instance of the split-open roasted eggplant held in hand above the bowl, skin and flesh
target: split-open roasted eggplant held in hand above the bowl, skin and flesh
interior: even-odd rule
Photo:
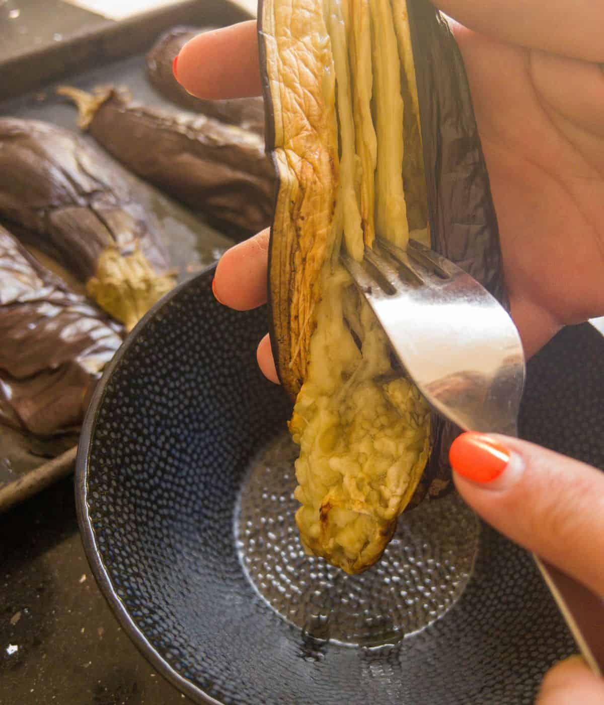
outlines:
[[[278,173],[271,340],[295,399],[297,525],[309,552],[360,572],[450,475],[443,424],[340,252],[360,261],[376,236],[411,236],[503,297],[495,212],[462,61],[427,0],[264,0],[259,46]]]

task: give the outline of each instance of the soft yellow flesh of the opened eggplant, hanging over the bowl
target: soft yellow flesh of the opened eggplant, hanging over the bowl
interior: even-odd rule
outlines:
[[[429,455],[429,407],[400,370],[390,379],[386,336],[339,262],[342,250],[360,261],[376,236],[429,243],[406,7],[265,0],[261,21],[280,178],[273,342],[295,396],[297,525],[307,550],[355,573],[381,556]]]

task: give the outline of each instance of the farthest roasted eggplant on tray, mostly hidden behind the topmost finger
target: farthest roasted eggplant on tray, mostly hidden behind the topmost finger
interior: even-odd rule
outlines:
[[[187,110],[239,125],[264,135],[264,106],[261,98],[202,100],[187,93],[174,78],[172,64],[180,49],[197,35],[216,27],[173,27],[164,32],[146,56],[147,78],[164,98]]]

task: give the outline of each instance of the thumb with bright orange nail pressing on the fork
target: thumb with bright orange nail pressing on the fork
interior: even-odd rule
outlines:
[[[489,524],[604,595],[604,473],[534,443],[468,432],[455,484]]]

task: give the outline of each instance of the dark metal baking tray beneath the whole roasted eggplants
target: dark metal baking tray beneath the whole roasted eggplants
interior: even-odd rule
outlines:
[[[81,26],[70,37],[63,35],[61,42],[4,60],[0,56],[1,116],[49,121],[78,132],[77,111],[55,92],[65,82],[84,90],[124,85],[137,101],[178,111],[147,82],[147,49],[175,25],[226,26],[250,18],[228,0],[185,1],[121,22],[92,13],[80,17]],[[180,281],[215,262],[233,244],[158,190],[149,187],[148,192],[149,207],[164,224],[164,243]],[[72,472],[77,443],[78,434],[43,440],[0,425],[0,512]]]

